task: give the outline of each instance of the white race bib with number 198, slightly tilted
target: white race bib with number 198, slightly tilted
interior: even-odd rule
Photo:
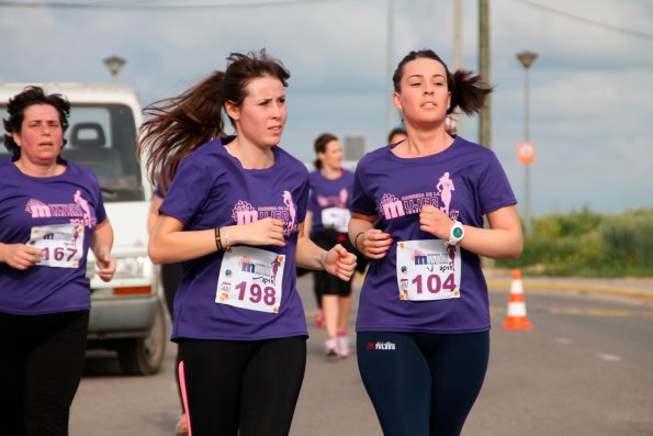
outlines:
[[[230,248],[222,260],[215,302],[278,313],[284,265],[285,255],[252,247]]]

